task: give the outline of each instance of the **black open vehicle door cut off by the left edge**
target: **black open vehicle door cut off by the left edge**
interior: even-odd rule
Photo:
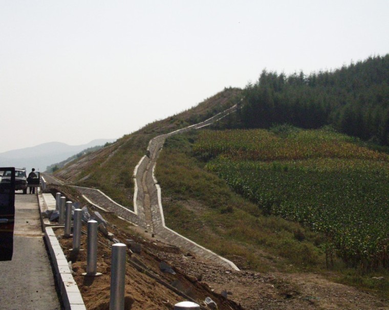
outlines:
[[[0,168],[0,260],[12,259],[14,220],[15,168]]]

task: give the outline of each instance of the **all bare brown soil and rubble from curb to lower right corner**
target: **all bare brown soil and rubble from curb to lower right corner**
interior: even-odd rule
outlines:
[[[140,253],[127,250],[126,310],[172,310],[183,300],[195,301],[203,309],[208,309],[204,304],[206,297],[215,301],[218,309],[228,310],[389,309],[387,299],[332,282],[320,274],[227,270],[192,253],[182,252],[113,214],[100,213],[109,221],[107,230],[117,240],[126,243],[131,239],[141,245]],[[85,225],[83,230],[87,230]],[[84,251],[75,257],[70,251],[72,239],[61,237],[62,229],[57,229],[56,234],[65,255],[72,261],[74,278],[87,309],[109,309],[110,246],[114,242],[99,232],[97,272],[102,275],[85,277],[82,273],[87,270],[87,236],[82,235],[81,248]],[[159,268],[161,261],[171,266],[176,274],[162,272]]]

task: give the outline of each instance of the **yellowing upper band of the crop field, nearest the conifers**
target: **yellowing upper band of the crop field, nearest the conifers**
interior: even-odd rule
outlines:
[[[299,130],[280,137],[267,130],[202,131],[193,151],[208,158],[224,154],[234,160],[302,160],[353,158],[389,162],[389,155],[358,146],[353,139],[325,130]]]

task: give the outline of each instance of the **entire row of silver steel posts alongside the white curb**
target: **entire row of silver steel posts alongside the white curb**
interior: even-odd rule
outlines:
[[[72,202],[66,201],[61,193],[55,196],[56,209],[59,211],[60,225],[64,225],[64,236],[71,237],[72,225]],[[82,210],[74,210],[73,223],[73,252],[80,251],[81,241]],[[88,221],[88,242],[87,242],[87,272],[85,276],[99,276],[97,272],[97,221]],[[116,243],[112,245],[111,254],[111,295],[110,310],[124,310],[124,287],[125,287],[125,265],[126,245]],[[191,301],[182,301],[174,306],[174,310],[200,309],[200,305]]]

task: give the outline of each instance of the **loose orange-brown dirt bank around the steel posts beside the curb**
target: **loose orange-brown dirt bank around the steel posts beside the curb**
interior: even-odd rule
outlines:
[[[86,230],[86,227],[83,227]],[[212,292],[208,285],[196,277],[186,275],[176,268],[172,261],[162,260],[167,254],[185,257],[195,261],[193,256],[181,253],[177,247],[171,247],[160,241],[146,241],[142,237],[126,234],[119,229],[109,227],[109,231],[121,242],[132,239],[141,247],[140,253],[128,252],[125,277],[125,309],[166,309],[171,310],[174,304],[183,300],[192,300],[202,304],[206,297],[210,297],[218,304],[219,309],[238,310],[241,306],[228,300],[221,294]],[[75,258],[70,249],[72,239],[60,237],[63,229],[56,230],[60,244],[68,259],[72,260],[74,278],[80,289],[85,306],[88,309],[109,309],[110,281],[111,281],[111,241],[99,233],[97,272],[98,277],[82,275],[87,269],[87,236],[81,237],[81,249]],[[175,274],[161,271],[161,263],[171,266]]]

